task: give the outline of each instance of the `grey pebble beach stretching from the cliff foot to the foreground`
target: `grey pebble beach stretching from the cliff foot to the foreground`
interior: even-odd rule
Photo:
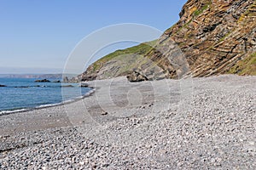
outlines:
[[[0,169],[256,169],[255,84],[90,82],[78,102],[0,116]]]

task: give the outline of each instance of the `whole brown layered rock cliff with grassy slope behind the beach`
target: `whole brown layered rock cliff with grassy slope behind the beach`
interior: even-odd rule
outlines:
[[[189,0],[179,15],[154,43],[119,50],[121,55],[97,61],[80,78],[131,77],[135,71],[148,80],[256,74],[255,0]]]

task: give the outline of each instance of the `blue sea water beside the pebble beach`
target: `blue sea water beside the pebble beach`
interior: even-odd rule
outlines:
[[[79,83],[34,82],[35,80],[0,78],[0,84],[7,86],[0,87],[0,115],[6,112],[58,105],[65,101],[79,99],[91,90],[91,88],[80,88]],[[69,85],[73,87],[65,87]]]

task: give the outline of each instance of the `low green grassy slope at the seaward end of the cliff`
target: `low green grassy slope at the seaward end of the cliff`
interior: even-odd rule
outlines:
[[[156,40],[143,42],[137,46],[119,49],[108,54],[90,65],[81,75],[81,79],[93,80],[96,77],[105,79],[109,77],[125,76],[148,62],[145,55],[154,48],[156,42]]]

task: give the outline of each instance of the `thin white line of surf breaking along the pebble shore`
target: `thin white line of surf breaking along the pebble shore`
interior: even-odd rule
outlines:
[[[44,108],[54,107],[54,106],[58,106],[58,105],[67,105],[67,104],[73,103],[75,101],[78,101],[80,99],[84,99],[85,97],[89,97],[91,94],[95,93],[95,91],[96,90],[94,88],[92,88],[92,89],[90,89],[90,91],[88,91],[86,94],[84,94],[82,96],[75,97],[74,99],[67,99],[67,100],[62,101],[60,103],[38,105],[38,106],[33,107],[33,108],[22,108],[22,109],[17,109],[17,110],[0,111],[0,116],[19,113],[19,112],[26,112],[26,111],[44,109]]]

